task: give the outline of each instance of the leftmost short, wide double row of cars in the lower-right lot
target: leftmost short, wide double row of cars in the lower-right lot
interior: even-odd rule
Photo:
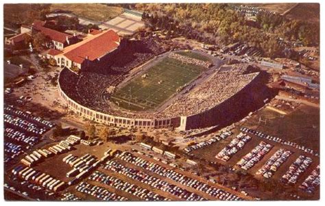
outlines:
[[[245,144],[249,142],[252,138],[244,133],[239,133],[231,142],[224,147],[215,158],[221,159],[227,162],[232,156],[234,156],[238,151],[243,149]]]

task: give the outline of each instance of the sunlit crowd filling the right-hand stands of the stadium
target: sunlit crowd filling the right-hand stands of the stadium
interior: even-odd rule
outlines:
[[[189,92],[178,97],[171,106],[161,112],[162,116],[190,116],[209,110],[230,98],[244,88],[258,73],[243,75],[243,68],[213,74],[207,81]]]

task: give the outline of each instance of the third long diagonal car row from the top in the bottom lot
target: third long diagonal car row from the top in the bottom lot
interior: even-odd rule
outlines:
[[[160,196],[152,191],[141,188],[140,186],[134,185],[132,183],[122,181],[116,177],[108,176],[103,172],[95,171],[91,176],[88,177],[93,181],[98,181],[100,183],[104,183],[106,185],[110,185],[112,188],[116,190],[122,190],[124,192],[128,192],[137,196],[145,201],[168,201],[168,198]]]

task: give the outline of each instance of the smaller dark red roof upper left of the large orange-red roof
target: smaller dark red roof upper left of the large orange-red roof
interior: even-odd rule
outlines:
[[[49,29],[47,27],[44,27],[45,25],[44,21],[34,21],[33,28],[36,29],[36,31],[42,32],[45,36],[48,36],[51,38],[51,40],[54,40],[56,42],[61,42],[64,44],[66,42],[67,38],[72,38],[73,36],[69,34],[62,33],[60,31],[56,31],[53,29]]]

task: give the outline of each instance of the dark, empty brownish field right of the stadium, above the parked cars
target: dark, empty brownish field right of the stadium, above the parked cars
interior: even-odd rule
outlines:
[[[266,125],[258,124],[260,117]],[[315,107],[302,105],[287,115],[263,109],[243,126],[320,151],[320,109]]]

